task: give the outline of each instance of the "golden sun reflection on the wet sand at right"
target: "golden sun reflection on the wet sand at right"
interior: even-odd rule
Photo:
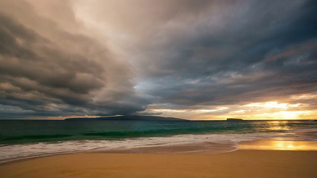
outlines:
[[[297,150],[317,151],[317,141],[257,140],[239,144],[244,150]]]

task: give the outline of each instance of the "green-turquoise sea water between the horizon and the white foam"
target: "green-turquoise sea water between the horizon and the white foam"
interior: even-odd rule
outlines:
[[[0,144],[113,140],[178,134],[282,133],[300,129],[317,129],[317,122],[0,120]]]

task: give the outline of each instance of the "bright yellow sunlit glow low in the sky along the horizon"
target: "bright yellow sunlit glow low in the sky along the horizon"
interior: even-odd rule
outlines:
[[[314,111],[304,110],[307,105],[287,102],[256,102],[245,105],[217,106],[204,109],[149,109],[149,112],[162,113],[164,117],[179,117],[190,120],[225,120],[241,118],[244,120],[296,120],[314,119]],[[199,107],[199,106],[198,106]]]

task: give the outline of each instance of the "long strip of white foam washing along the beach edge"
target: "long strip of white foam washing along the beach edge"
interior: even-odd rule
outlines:
[[[17,144],[0,146],[0,163],[70,152],[92,152],[120,150],[149,146],[170,146],[184,144],[199,144],[205,142],[222,143],[237,146],[241,141],[269,139],[272,137],[288,137],[296,139],[294,135],[277,135],[265,133],[253,134],[183,134],[169,137],[148,137],[122,140],[75,140],[49,143]]]

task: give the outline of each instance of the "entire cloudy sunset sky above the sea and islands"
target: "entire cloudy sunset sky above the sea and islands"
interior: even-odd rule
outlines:
[[[317,119],[316,0],[0,0],[0,119]]]

